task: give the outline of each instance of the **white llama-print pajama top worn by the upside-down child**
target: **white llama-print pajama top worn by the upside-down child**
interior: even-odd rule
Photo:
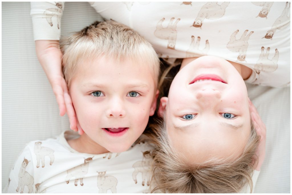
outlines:
[[[247,83],[271,87],[290,85],[290,4],[276,1],[90,3],[105,20],[126,24],[144,36],[159,57],[167,58],[168,62],[217,56],[251,68]],[[50,29],[55,25],[54,20],[51,27],[43,13],[48,8],[57,9],[57,5],[45,2],[31,5],[34,40],[54,40],[52,37],[60,36],[59,31]],[[46,26],[40,29],[43,24]]]

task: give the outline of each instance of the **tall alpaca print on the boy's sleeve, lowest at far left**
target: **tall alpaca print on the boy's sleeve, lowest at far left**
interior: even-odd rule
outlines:
[[[27,171],[25,171],[29,162],[30,161],[24,157],[18,174],[18,187],[16,192],[18,192],[20,189],[20,193],[23,193],[25,186],[28,188],[28,193],[33,192],[34,178],[29,173],[27,173]]]

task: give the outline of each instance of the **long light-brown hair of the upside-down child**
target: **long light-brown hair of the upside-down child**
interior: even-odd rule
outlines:
[[[151,129],[151,130],[150,130]],[[149,125],[146,135],[154,144],[152,192],[164,193],[238,193],[249,184],[252,192],[252,173],[257,163],[259,136],[251,124],[246,146],[232,159],[210,159],[200,164],[187,164],[181,153],[169,144],[164,120]],[[152,133],[151,133],[152,131]]]

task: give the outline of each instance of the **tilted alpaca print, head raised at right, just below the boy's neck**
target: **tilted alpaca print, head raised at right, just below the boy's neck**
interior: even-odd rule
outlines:
[[[67,170],[67,177],[65,179],[66,183],[69,184],[69,180],[72,177],[75,177],[74,185],[77,186],[77,182],[80,179],[80,185],[83,186],[83,178],[84,178],[84,175],[88,173],[89,162],[92,161],[92,158],[93,157],[84,159],[83,164]]]

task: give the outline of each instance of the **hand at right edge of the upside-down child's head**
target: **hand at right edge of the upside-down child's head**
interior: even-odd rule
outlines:
[[[250,100],[249,100],[249,109],[250,109],[251,120],[253,122],[253,125],[256,128],[258,135],[260,136],[260,143],[256,151],[256,154],[258,156],[258,164],[256,164],[256,167],[254,167],[257,171],[260,171],[260,167],[262,166],[265,159],[266,130],[267,129],[262,119],[260,118],[260,115],[258,114],[256,107],[253,105],[253,103]]]

